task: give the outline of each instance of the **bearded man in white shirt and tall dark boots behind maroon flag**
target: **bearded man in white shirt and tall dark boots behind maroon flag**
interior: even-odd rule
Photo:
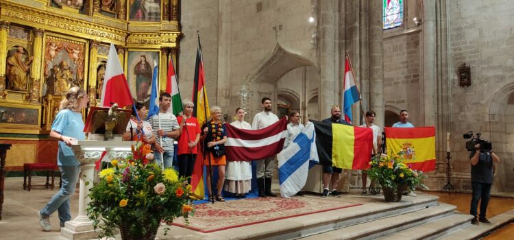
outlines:
[[[264,107],[264,111],[255,115],[254,121],[252,121],[253,130],[266,128],[278,121],[277,115],[271,112],[271,99],[269,97],[262,98],[260,104]],[[271,192],[271,178],[273,177],[273,171],[276,169],[275,158],[257,160],[256,167],[259,197],[276,197],[277,195]]]

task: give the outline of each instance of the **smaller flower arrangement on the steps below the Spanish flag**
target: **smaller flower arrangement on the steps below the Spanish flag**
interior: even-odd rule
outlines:
[[[411,169],[411,165],[404,164],[402,158],[403,152],[394,156],[386,154],[376,155],[369,162],[371,168],[367,171],[371,180],[380,184],[382,188],[398,189],[407,187],[414,189],[418,186],[424,186],[423,171],[415,171]]]

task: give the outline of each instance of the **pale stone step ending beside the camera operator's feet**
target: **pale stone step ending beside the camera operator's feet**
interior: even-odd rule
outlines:
[[[466,228],[471,225],[472,215],[454,213],[448,217],[429,221],[414,228],[408,228],[391,235],[381,237],[381,240],[407,240],[407,239],[436,239],[450,232]]]

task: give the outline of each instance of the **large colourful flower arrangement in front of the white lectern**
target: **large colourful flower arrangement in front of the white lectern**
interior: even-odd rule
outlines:
[[[174,169],[145,164],[153,154],[144,154],[141,147],[132,152],[134,157],[112,160],[112,167],[100,171],[100,181],[90,191],[86,211],[95,230],[101,228],[99,237],[114,237],[117,228],[135,239],[152,231],[155,236],[162,222],[193,215],[187,179],[179,178]]]

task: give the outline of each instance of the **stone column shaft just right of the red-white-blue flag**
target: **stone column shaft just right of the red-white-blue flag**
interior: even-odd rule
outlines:
[[[384,38],[382,2],[369,4],[369,110],[376,112],[375,124],[384,129]]]

